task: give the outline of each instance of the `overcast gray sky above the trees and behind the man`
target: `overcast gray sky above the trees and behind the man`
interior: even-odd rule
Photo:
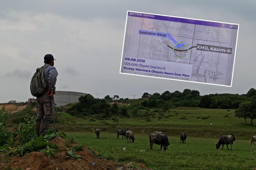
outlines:
[[[119,96],[166,90],[245,94],[256,87],[255,1],[4,1],[0,6],[0,103],[32,97],[45,54],[57,61],[56,90]],[[232,87],[120,74],[126,12],[240,24]],[[94,95],[94,97],[96,97]],[[98,95],[104,97],[104,95]]]

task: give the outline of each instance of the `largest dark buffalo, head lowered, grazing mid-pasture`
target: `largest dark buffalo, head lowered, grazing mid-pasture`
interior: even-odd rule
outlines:
[[[150,149],[153,149],[153,144],[160,144],[161,148],[160,151],[162,150],[162,146],[164,146],[164,150],[168,149],[169,140],[166,134],[163,132],[161,133],[151,133],[149,134],[149,142],[150,142]]]

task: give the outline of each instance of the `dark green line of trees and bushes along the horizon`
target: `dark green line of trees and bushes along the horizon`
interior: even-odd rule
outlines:
[[[145,92],[143,99],[123,99],[118,95],[104,99],[96,99],[87,94],[79,97],[75,104],[71,104],[66,110],[71,115],[94,115],[101,114],[101,117],[120,116],[138,116],[139,110],[148,110],[149,108],[158,108],[168,110],[173,107],[202,107],[212,109],[236,109],[235,115],[245,119],[256,119],[256,89],[250,89],[247,94],[208,94],[200,95],[198,90],[184,89],[180,91],[165,91],[162,94]],[[117,103],[123,103],[117,104]],[[125,103],[130,103],[125,105]],[[145,114],[143,114],[145,115]]]

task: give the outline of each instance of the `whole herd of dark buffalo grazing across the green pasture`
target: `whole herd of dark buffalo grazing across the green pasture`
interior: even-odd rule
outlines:
[[[101,133],[100,129],[95,130],[96,138],[100,138],[100,133]],[[120,130],[117,130],[116,139],[119,139],[119,135],[122,135],[122,139],[123,139],[123,137],[124,137],[124,139],[126,138],[127,143],[131,143],[131,140],[134,143],[135,137],[134,137],[133,131],[130,131],[130,130],[126,131],[124,129],[120,129]],[[182,143],[186,143],[186,139],[187,139],[187,135],[185,133],[181,133],[180,134],[180,143],[181,143],[181,141],[182,141]],[[215,144],[216,149],[219,149],[219,147],[221,145],[222,145],[222,149],[223,149],[223,146],[225,144],[227,146],[227,149],[229,149],[228,144],[230,144],[230,150],[232,150],[233,141],[235,141],[235,140],[236,140],[236,138],[233,134],[222,135],[220,137],[218,143]],[[256,141],[256,136],[254,135],[252,137],[251,144],[253,143],[253,145],[254,145],[255,141]],[[162,150],[162,147],[164,147],[164,150],[166,150],[170,144],[167,135],[163,132],[158,132],[158,131],[155,131],[155,132],[149,134],[149,143],[150,143],[151,150],[153,149],[153,144],[161,145],[160,151]]]

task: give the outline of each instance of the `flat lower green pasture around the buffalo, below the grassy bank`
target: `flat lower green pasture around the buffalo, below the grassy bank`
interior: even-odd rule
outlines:
[[[234,142],[233,150],[216,149],[215,142],[210,138],[187,137],[186,144],[180,144],[178,137],[170,137],[170,145],[166,151],[159,151],[160,145],[153,145],[150,150],[148,134],[135,134],[134,143],[127,143],[125,139],[116,139],[116,134],[101,132],[100,139],[92,132],[69,132],[80,144],[89,146],[107,159],[118,162],[143,163],[148,168],[162,170],[169,169],[252,169],[256,161],[252,158],[255,148],[248,140]],[[126,151],[123,151],[123,148]],[[229,146],[230,149],[230,146]]]

